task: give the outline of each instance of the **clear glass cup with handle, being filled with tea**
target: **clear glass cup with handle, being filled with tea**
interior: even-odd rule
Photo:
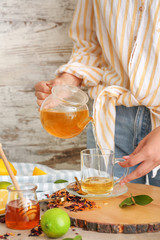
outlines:
[[[115,180],[114,166],[124,161],[114,158],[114,152],[109,149],[97,148],[81,151],[81,187],[87,194],[110,194],[114,186],[128,174],[128,168],[123,169],[124,174]],[[119,166],[120,167],[120,166]]]

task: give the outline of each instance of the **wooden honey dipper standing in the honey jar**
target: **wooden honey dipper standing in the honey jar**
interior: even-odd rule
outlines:
[[[9,162],[4,154],[4,151],[2,149],[2,144],[0,143],[0,156],[2,157],[2,160],[4,162],[4,165],[6,166],[6,169],[9,173],[9,176],[15,186],[15,189],[18,191],[18,195],[19,195],[19,202],[18,202],[18,207],[19,207],[19,214],[21,216],[24,216],[25,218],[27,217],[29,220],[34,219],[34,217],[36,216],[36,212],[37,212],[37,208],[36,206],[30,206],[30,201],[28,201],[27,199],[24,198],[21,189],[19,187],[19,184],[14,176],[14,173],[9,165]]]

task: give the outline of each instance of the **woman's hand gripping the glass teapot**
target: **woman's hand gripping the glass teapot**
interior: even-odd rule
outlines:
[[[44,99],[51,94],[51,89],[53,86],[57,85],[79,86],[81,82],[82,79],[69,73],[63,73],[53,80],[38,82],[35,85],[35,95],[37,97],[37,104],[41,106]]]

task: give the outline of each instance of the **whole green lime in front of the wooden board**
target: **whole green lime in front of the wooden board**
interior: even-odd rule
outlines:
[[[40,224],[48,237],[58,238],[68,232],[71,222],[64,210],[52,208],[42,215]]]

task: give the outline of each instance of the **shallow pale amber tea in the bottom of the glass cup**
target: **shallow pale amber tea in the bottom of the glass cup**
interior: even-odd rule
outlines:
[[[89,177],[81,184],[82,190],[88,194],[106,194],[113,190],[113,180],[106,177]]]

